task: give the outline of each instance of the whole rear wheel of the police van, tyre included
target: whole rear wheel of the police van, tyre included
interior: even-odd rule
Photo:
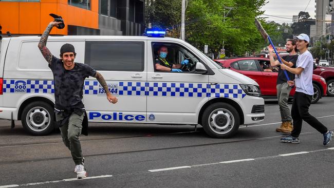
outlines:
[[[22,111],[23,128],[31,135],[43,136],[51,133],[54,127],[54,113],[50,104],[35,101],[28,104]]]

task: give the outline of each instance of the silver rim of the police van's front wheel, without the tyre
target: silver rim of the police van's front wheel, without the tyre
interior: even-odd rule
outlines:
[[[211,112],[208,121],[211,130],[215,133],[226,134],[234,125],[234,116],[229,110],[218,108]]]

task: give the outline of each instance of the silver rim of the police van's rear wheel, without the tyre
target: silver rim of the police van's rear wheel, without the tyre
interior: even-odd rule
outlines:
[[[26,122],[31,130],[40,132],[49,126],[50,114],[41,106],[33,107],[28,111]]]

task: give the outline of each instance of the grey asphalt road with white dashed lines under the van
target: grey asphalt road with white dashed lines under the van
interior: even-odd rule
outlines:
[[[334,129],[334,98],[310,112]],[[291,104],[290,104],[291,105]],[[266,118],[242,125],[230,139],[194,126],[90,123],[81,136],[88,177],[76,180],[60,134],[34,137],[20,122],[0,121],[1,187],[334,187],[334,141],[303,123],[300,144],[280,143],[280,112],[266,100]]]

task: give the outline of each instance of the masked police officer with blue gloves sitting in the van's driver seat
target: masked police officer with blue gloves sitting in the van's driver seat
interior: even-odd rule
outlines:
[[[172,64],[166,60],[168,48],[161,46],[158,50],[158,56],[155,59],[155,69],[160,71],[182,72],[180,69],[183,65],[188,65],[189,60],[183,60],[181,64]]]

